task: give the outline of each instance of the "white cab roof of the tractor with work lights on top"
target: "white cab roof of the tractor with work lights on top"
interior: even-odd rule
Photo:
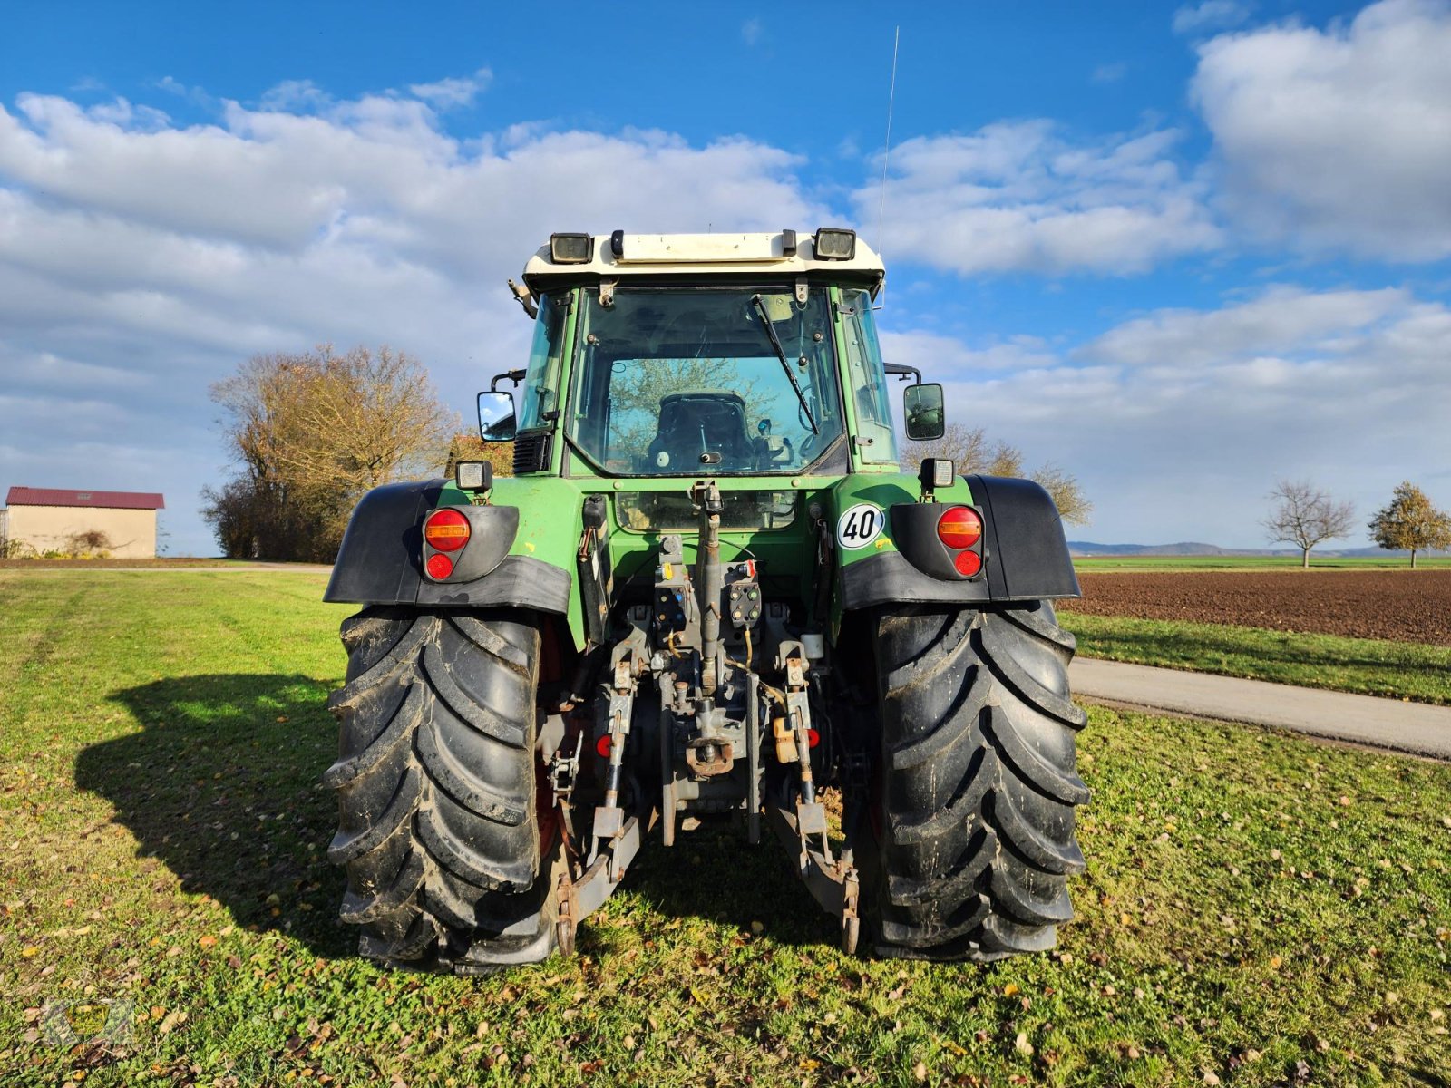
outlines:
[[[874,294],[887,270],[882,258],[850,231],[831,234],[837,251],[852,235],[846,258],[817,255],[817,235],[797,231],[759,234],[554,235],[524,265],[533,294],[579,283],[673,279],[808,280],[858,283]],[[560,239],[563,244],[556,245]],[[586,242],[588,239],[588,242]],[[830,242],[826,247],[830,248]],[[567,252],[567,251],[573,252]],[[567,254],[573,260],[557,260]]]

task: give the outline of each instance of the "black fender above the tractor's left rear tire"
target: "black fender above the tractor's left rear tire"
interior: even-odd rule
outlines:
[[[387,483],[358,502],[342,535],[328,602],[366,605],[512,605],[564,615],[573,579],[567,570],[530,556],[506,556],[474,582],[434,583],[424,579],[422,522],[444,480]]]

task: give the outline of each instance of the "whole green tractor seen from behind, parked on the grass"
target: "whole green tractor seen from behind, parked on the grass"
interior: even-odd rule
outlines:
[[[769,827],[847,952],[1053,944],[1078,582],[1037,485],[903,471],[889,376],[908,440],[943,396],[882,361],[882,279],[852,231],[617,231],[511,281],[533,348],[479,419],[514,476],[370,492],[326,592],[364,605],[325,775],[361,955],[570,955],[647,833],[705,821]]]

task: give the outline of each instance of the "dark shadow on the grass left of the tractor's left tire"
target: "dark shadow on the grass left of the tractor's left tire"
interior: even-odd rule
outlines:
[[[331,686],[210,675],[112,692],[142,730],[83,749],[75,783],[115,805],[141,857],[238,926],[286,931],[318,956],[353,955],[357,937],[337,921],[342,873],[326,859],[337,808],[318,785],[337,756]]]

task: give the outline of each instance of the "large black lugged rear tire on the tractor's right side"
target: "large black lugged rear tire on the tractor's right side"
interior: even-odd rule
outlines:
[[[987,962],[1053,947],[1072,917],[1068,876],[1084,869],[1074,647],[1048,602],[879,617],[882,766],[858,849],[879,955]]]

